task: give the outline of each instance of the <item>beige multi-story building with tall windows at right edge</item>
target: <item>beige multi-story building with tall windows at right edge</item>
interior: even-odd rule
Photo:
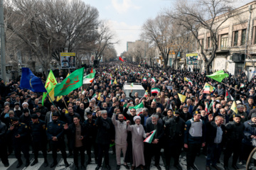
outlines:
[[[231,74],[240,74],[245,68],[250,78],[256,73],[256,1],[236,8],[233,12],[235,14],[218,28],[218,50],[210,69],[224,69]],[[222,22],[226,14],[218,16],[216,23]],[[210,32],[204,28],[199,29],[198,39],[207,57],[210,57]],[[196,42],[193,42],[192,49],[191,53],[198,53],[198,60],[202,63],[201,49]],[[203,67],[201,69],[204,70]]]

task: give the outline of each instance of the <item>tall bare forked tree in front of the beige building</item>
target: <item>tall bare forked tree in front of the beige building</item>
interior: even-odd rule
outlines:
[[[174,10],[166,11],[170,19],[174,20],[179,26],[186,28],[193,35],[194,40],[200,47],[200,54],[203,57],[207,74],[218,50],[218,28],[234,14],[232,2],[231,0],[201,0],[193,2],[184,0],[177,1]],[[218,20],[219,16],[221,16],[220,20]],[[210,33],[210,41],[213,43],[210,57],[207,57],[202,40],[198,38],[198,33],[202,29]]]

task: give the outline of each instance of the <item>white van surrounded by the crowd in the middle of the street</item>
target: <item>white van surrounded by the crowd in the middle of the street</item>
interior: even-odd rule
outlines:
[[[134,96],[135,92],[138,92],[139,98],[142,98],[145,94],[145,89],[143,88],[142,84],[134,83],[133,86],[131,84],[124,84],[122,90],[124,91],[124,94],[127,98],[129,98],[129,93],[131,93],[132,90],[132,96]]]

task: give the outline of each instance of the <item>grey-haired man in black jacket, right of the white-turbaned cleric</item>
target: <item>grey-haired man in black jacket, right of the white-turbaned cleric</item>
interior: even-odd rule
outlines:
[[[151,143],[144,143],[146,169],[150,169],[151,158],[154,156],[155,166],[158,170],[161,170],[161,167],[159,166],[159,161],[161,154],[161,140],[164,137],[164,125],[157,122],[159,120],[158,115],[152,115],[151,118],[151,123],[146,124],[145,131],[146,133],[149,133],[152,132],[153,130],[156,130],[156,133]]]

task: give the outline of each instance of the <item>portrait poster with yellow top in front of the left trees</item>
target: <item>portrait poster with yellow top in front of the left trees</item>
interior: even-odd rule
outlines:
[[[60,52],[61,69],[75,69],[75,52]]]

